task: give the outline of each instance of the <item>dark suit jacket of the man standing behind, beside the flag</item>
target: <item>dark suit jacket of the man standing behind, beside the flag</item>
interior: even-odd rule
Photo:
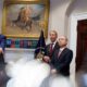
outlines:
[[[49,44],[49,45],[46,46],[45,55],[48,55],[48,57],[52,58],[54,51],[58,50],[58,49],[59,49],[59,44],[55,42],[55,46],[53,47],[53,51],[52,51],[52,53],[50,54],[50,44]]]

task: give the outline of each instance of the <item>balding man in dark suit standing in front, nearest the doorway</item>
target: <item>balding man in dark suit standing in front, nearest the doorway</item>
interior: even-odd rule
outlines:
[[[60,49],[55,50],[51,59],[51,73],[59,73],[64,76],[70,75],[70,63],[73,58],[73,51],[66,48],[67,38],[61,36],[59,38]]]

